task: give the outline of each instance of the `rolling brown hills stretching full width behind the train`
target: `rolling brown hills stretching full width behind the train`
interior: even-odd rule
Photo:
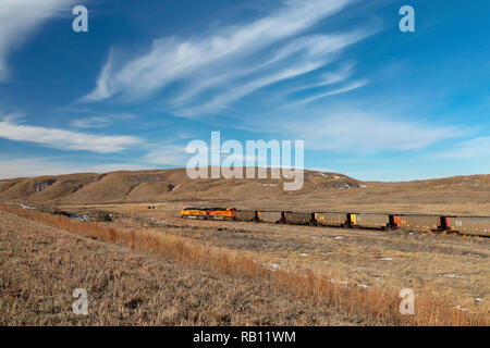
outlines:
[[[283,178],[191,179],[185,169],[85,173],[5,179],[0,182],[0,201],[54,206],[173,202],[490,215],[490,175],[381,183],[305,171],[303,188],[286,191]]]

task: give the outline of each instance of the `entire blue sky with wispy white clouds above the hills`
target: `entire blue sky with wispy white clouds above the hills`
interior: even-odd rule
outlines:
[[[88,9],[74,33],[72,9]],[[399,9],[415,9],[402,33]],[[0,178],[302,139],[360,179],[490,173],[488,1],[0,1]]]

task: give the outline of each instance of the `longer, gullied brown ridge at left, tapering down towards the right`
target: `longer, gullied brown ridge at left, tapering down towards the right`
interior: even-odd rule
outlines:
[[[0,201],[103,203],[289,195],[283,190],[283,178],[270,178],[270,170],[268,177],[191,179],[185,169],[48,175],[1,182]],[[303,188],[290,192],[304,195],[315,190],[353,189],[363,186],[362,182],[342,174],[305,171]]]

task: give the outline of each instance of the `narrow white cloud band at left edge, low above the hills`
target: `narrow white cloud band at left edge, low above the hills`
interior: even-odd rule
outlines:
[[[0,119],[0,137],[29,141],[62,150],[86,150],[99,153],[119,152],[142,140],[134,136],[109,136],[77,133],[58,128],[15,123],[11,117]]]

